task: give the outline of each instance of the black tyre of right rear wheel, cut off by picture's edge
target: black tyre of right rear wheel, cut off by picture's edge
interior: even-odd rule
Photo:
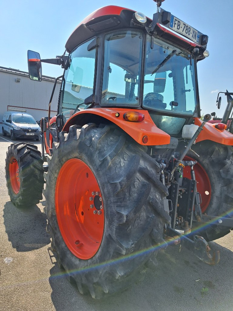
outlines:
[[[188,152],[188,156],[203,166],[211,184],[211,199],[205,213],[210,216],[233,218],[233,147],[203,141],[193,145],[192,149],[200,157],[192,151]],[[219,239],[229,232],[229,228],[221,225],[209,225],[198,229],[198,234],[207,241]]]

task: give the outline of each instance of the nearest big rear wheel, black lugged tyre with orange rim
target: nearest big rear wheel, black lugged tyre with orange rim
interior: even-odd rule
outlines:
[[[58,265],[81,294],[100,299],[126,289],[167,246],[167,188],[146,149],[112,125],[94,123],[73,125],[53,143],[44,173],[47,231]]]

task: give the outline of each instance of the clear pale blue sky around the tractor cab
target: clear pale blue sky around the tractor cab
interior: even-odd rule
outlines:
[[[65,51],[66,40],[87,15],[99,7],[118,5],[151,17],[156,12],[152,0],[60,0],[4,1],[1,6],[0,66],[27,71],[27,50],[41,58],[55,58]],[[221,109],[216,107],[217,92],[233,92],[233,17],[232,0],[166,0],[162,8],[209,36],[210,56],[198,63],[199,93],[203,113],[215,111],[221,117],[226,107],[222,96]],[[62,75],[60,66],[43,64],[43,75]],[[48,98],[49,101],[49,98]]]

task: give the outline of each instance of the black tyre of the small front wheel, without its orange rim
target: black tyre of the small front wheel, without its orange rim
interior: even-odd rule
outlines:
[[[13,158],[19,165],[20,191],[15,193],[11,187],[9,164]],[[44,188],[43,160],[37,146],[29,143],[16,143],[8,147],[6,157],[6,180],[8,194],[16,207],[30,207],[42,199]]]

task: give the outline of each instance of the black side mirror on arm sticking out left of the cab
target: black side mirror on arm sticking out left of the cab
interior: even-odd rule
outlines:
[[[42,67],[40,62],[40,54],[28,50],[28,72],[31,80],[42,80]]]

